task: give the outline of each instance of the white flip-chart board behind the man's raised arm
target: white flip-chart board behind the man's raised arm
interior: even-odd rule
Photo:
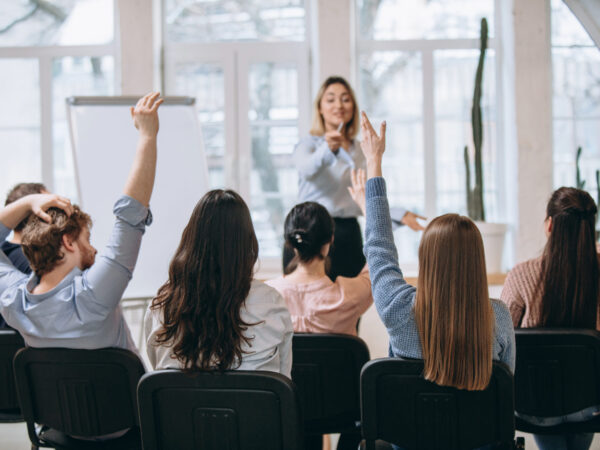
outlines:
[[[129,107],[137,97],[71,97],[67,116],[80,207],[93,221],[91,242],[101,255],[115,221],[138,132]],[[208,190],[200,124],[190,97],[167,97],[158,110],[158,156],[146,228],[133,278],[124,297],[152,297],[168,268],[194,206]]]

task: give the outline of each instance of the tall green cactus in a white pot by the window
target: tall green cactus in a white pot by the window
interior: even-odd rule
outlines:
[[[502,256],[504,253],[504,237],[507,225],[504,223],[489,223],[485,221],[483,203],[483,167],[481,148],[483,143],[483,126],[481,119],[481,90],[483,80],[483,64],[487,49],[488,27],[487,20],[481,19],[480,52],[477,72],[475,73],[475,88],[473,90],[473,106],[471,107],[471,128],[473,132],[474,161],[472,163],[475,180],[471,186],[471,161],[469,148],[465,146],[464,159],[466,169],[467,213],[473,219],[481,232],[485,249],[485,262],[488,273],[502,272]]]

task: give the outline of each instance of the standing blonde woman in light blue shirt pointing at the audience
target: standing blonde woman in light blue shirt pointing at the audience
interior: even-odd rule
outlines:
[[[323,205],[335,222],[334,242],[329,252],[331,266],[328,276],[357,276],[365,265],[360,226],[356,218],[360,208],[352,200],[352,169],[365,169],[365,158],[355,140],[360,126],[358,105],[350,84],[342,77],[332,76],[321,85],[314,103],[310,136],[304,137],[294,149],[294,164],[298,169],[298,202]],[[422,230],[417,216],[398,208],[394,214],[413,230]],[[283,268],[294,254],[284,248]]]

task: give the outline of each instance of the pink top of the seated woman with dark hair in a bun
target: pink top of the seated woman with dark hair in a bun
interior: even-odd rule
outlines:
[[[325,276],[297,284],[283,276],[266,283],[285,299],[298,332],[356,336],[358,318],[373,303],[367,265],[356,277],[337,277],[335,282]]]

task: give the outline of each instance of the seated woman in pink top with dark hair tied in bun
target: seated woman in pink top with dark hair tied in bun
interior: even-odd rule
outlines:
[[[364,177],[364,171],[359,176]],[[364,206],[364,191],[357,203]],[[358,319],[373,303],[366,264],[354,278],[331,281],[327,276],[334,227],[325,207],[315,202],[294,206],[285,219],[285,245],[294,257],[284,276],[267,284],[285,298],[294,331],[356,336]]]

